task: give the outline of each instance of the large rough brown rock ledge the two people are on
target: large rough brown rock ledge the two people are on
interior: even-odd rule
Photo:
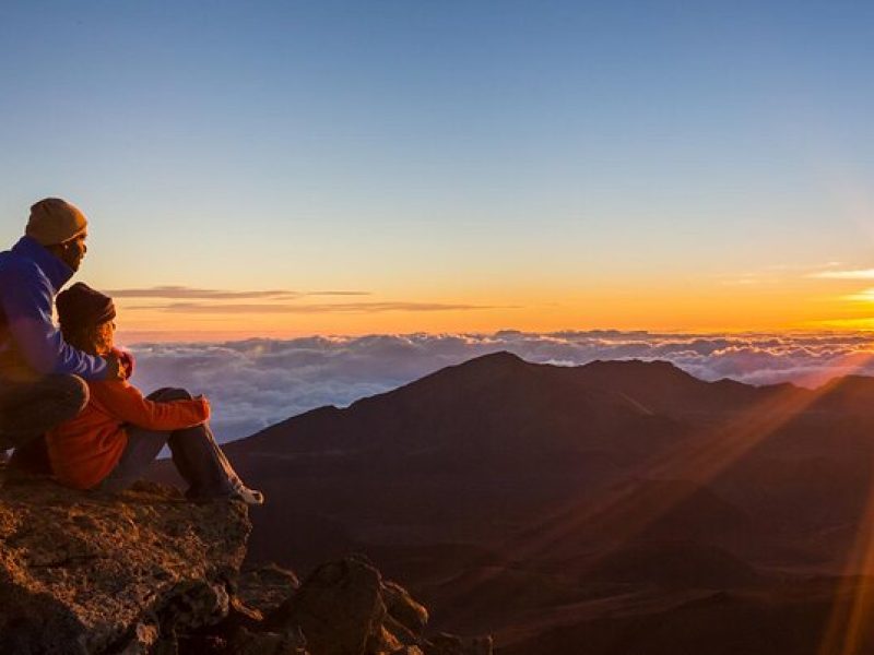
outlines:
[[[241,503],[46,480],[0,490],[0,653],[147,653],[227,617],[250,523]]]

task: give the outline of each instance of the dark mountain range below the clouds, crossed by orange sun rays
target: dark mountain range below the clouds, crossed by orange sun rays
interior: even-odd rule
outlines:
[[[769,617],[822,619],[826,599],[793,598],[806,577],[858,572],[845,563],[869,511],[872,407],[867,378],[752,386],[498,353],[226,450],[270,499],[251,559],[306,570],[363,551],[438,627],[529,648],[508,653],[589,639],[618,653],[662,623],[721,634],[719,604],[694,605],[720,591],[766,632]]]

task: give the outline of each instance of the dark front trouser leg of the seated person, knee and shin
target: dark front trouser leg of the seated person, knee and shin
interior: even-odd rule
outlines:
[[[160,389],[149,398],[155,402],[190,400],[191,394],[182,389]],[[240,484],[206,424],[175,430],[167,445],[173,463],[189,485],[189,497],[225,496]]]

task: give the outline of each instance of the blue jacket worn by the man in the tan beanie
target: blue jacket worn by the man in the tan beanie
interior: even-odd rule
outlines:
[[[0,252],[0,382],[49,373],[106,378],[106,361],[73,348],[52,321],[55,296],[73,271],[29,237]]]

